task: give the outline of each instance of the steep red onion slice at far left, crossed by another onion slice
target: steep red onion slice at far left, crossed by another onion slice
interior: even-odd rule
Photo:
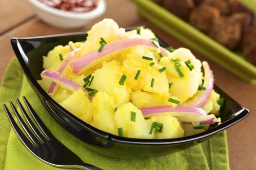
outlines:
[[[70,50],[73,49],[72,45],[69,45],[69,47],[70,47]],[[64,69],[67,67],[69,61],[76,55],[76,53],[78,51],[80,51],[80,48],[71,51],[70,54],[67,56],[67,58],[62,62],[62,64],[59,67],[59,73],[60,74],[64,71]],[[55,92],[57,91],[57,89],[58,89],[58,85],[56,83],[52,82],[48,91],[47,91],[47,93],[49,95],[54,95]]]

